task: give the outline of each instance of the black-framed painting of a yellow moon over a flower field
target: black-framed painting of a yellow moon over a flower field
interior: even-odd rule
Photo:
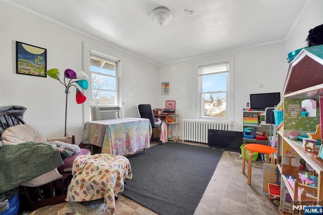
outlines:
[[[16,74],[47,77],[45,48],[16,41]]]

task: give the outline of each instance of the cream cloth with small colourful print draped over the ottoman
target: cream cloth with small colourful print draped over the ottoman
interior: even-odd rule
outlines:
[[[66,201],[88,201],[104,198],[112,214],[115,195],[124,189],[124,179],[132,179],[131,165],[126,157],[109,154],[83,155],[73,162],[73,179]]]

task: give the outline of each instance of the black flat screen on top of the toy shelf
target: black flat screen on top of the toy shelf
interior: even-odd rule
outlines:
[[[281,101],[281,93],[250,94],[251,110],[264,110],[267,107],[275,107]]]

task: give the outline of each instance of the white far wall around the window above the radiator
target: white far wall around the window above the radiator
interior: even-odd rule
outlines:
[[[250,102],[250,94],[282,91],[287,69],[284,52],[285,42],[279,42],[160,65],[158,80],[170,82],[170,95],[161,96],[159,106],[164,107],[165,100],[176,100],[176,112],[180,121],[179,136],[182,138],[182,119],[199,117],[197,65],[233,56],[234,123],[235,130],[242,131],[242,110]],[[263,88],[258,87],[259,82],[263,83]]]

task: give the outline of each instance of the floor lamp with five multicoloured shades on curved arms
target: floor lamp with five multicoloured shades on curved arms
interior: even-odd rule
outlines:
[[[66,103],[65,103],[65,130],[64,130],[64,136],[68,136],[66,132],[66,120],[67,120],[67,98],[68,94],[70,93],[70,87],[74,86],[76,88],[76,103],[82,104],[85,102],[86,97],[84,94],[76,87],[75,83],[78,84],[78,86],[84,90],[87,90],[88,88],[88,82],[85,79],[88,79],[89,77],[84,73],[84,71],[80,70],[78,73],[75,73],[72,69],[66,69],[64,71],[64,83],[60,80],[60,73],[58,68],[52,68],[46,71],[46,74],[53,79],[58,80],[61,84],[65,86],[65,94],[66,94]],[[67,83],[67,80],[68,83]]]

